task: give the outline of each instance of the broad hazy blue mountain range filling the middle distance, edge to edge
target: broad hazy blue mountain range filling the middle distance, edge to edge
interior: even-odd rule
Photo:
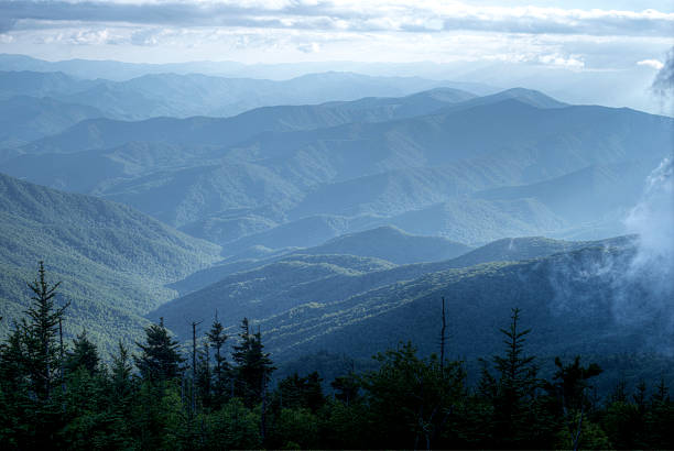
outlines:
[[[672,118],[564,106],[522,89],[436,109],[438,97],[455,95],[229,119],[91,120],[21,147],[25,155],[0,168],[130,205],[227,244],[232,255],[253,245],[318,245],[380,226],[472,245],[623,233],[620,218],[641,191],[639,179],[672,145]],[[392,101],[401,111],[418,112],[420,102],[433,111],[390,119]],[[377,120],[362,122],[369,114]],[[320,127],[335,118],[356,122]],[[256,130],[258,121],[270,130]],[[90,165],[99,170],[80,182]],[[565,194],[572,185],[583,189]]]

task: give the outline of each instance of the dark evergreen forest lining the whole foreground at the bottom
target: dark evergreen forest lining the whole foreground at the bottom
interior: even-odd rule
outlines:
[[[556,358],[543,377],[517,307],[476,384],[465,362],[446,358],[444,308],[438,353],[401,342],[374,355],[372,370],[272,384],[273,355],[247,318],[236,337],[217,316],[204,337],[193,323],[189,352],[160,320],[135,350],[120,340],[106,360],[86,330],[64,341],[68,304],[42,263],[29,287],[29,307],[0,345],[4,449],[674,448],[664,378],[604,393],[594,383],[602,369],[581,356]]]

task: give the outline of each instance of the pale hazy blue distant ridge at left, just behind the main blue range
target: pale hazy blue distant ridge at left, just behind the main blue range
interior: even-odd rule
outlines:
[[[48,96],[68,103],[97,108],[108,118],[144,120],[155,117],[230,117],[265,106],[401,97],[446,85],[452,84],[416,77],[371,77],[352,73],[308,74],[287,80],[164,73],[112,81],[105,78],[81,79],[61,72],[22,70],[0,72],[0,99],[20,95]],[[406,117],[472,97],[466,91],[446,88],[444,94],[436,92],[433,100],[414,99],[414,105],[406,109],[396,108],[394,102],[378,108],[380,113]]]

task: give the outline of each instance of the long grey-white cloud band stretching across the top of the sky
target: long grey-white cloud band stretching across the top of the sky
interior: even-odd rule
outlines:
[[[671,36],[674,13],[541,7],[472,7],[417,0],[18,0],[0,3],[0,32],[39,21],[175,26],[265,26],[354,32],[489,31]]]

